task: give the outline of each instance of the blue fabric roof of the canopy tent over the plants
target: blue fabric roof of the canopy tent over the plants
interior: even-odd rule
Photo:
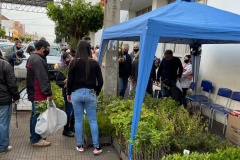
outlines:
[[[193,1],[174,3],[103,31],[103,39],[138,41],[143,34],[161,43],[239,43],[240,16]],[[184,40],[183,40],[184,39]]]

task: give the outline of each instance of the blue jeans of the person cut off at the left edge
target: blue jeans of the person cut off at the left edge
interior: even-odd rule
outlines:
[[[9,146],[12,104],[0,106],[0,152],[5,152]]]

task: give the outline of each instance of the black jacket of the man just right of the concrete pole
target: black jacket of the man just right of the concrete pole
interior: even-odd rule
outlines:
[[[129,78],[132,72],[132,59],[129,54],[126,55],[124,62],[119,63],[119,78]]]

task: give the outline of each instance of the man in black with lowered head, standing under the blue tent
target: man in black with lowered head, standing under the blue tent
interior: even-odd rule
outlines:
[[[166,97],[169,92],[163,87],[163,81],[168,79],[172,82],[173,86],[176,86],[177,81],[180,81],[183,73],[182,62],[179,58],[173,56],[172,50],[166,50],[164,53],[165,58],[163,58],[157,73],[157,85],[160,82],[161,77],[161,92],[162,96]]]

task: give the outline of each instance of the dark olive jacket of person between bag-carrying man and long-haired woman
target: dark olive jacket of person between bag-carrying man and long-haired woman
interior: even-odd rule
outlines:
[[[56,78],[57,85],[62,88],[63,97],[67,95],[66,94],[67,85],[64,85],[64,82],[63,82],[66,79],[67,72],[68,72],[68,67],[65,64],[59,69],[57,73],[57,78]]]

